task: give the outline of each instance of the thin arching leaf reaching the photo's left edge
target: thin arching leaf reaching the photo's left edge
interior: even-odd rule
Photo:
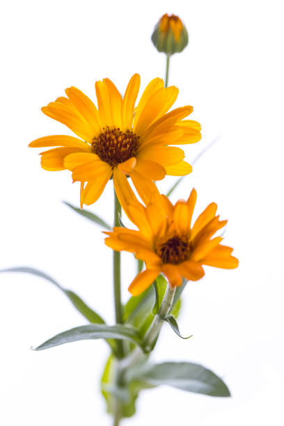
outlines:
[[[88,319],[89,322],[93,322],[95,324],[105,324],[104,319],[100,317],[97,313],[95,313],[94,310],[90,309],[82,299],[77,296],[74,292],[71,290],[67,290],[63,287],[61,287],[60,284],[58,284],[57,281],[52,278],[52,276],[49,276],[45,274],[45,272],[39,271],[38,269],[29,268],[29,267],[16,267],[16,268],[8,268],[8,269],[1,269],[0,272],[24,272],[25,274],[32,274],[36,276],[40,276],[40,278],[44,278],[45,280],[49,281],[49,283],[52,283],[56,285],[56,287],[63,292],[68,299],[73,303],[74,307],[79,310],[79,313],[84,315],[86,319]]]

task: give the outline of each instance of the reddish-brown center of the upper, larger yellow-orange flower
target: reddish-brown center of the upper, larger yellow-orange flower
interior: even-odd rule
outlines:
[[[92,150],[102,161],[112,167],[136,155],[139,136],[131,130],[121,132],[119,128],[103,128],[103,132],[93,139]]]

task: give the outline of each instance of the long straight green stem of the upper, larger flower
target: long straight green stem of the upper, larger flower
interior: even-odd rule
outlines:
[[[114,191],[114,226],[120,226],[118,216],[121,214],[121,206]],[[120,292],[120,251],[113,251],[113,292],[114,292],[114,306],[116,309],[116,324],[123,324],[123,310],[121,306],[121,292]],[[123,342],[117,340],[117,356],[123,358]]]

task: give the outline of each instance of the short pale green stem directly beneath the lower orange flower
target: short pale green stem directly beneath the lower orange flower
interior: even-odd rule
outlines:
[[[143,347],[145,352],[150,352],[152,350],[153,345],[159,336],[159,332],[161,330],[161,326],[164,323],[164,319],[171,312],[171,308],[173,307],[173,298],[175,296],[175,287],[171,287],[168,284],[166,287],[166,292],[164,295],[164,299],[161,302],[161,307],[159,308],[159,312],[153,319],[148,332],[145,334],[145,338],[143,340]]]

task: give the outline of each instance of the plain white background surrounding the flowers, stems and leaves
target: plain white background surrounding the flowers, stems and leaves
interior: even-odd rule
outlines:
[[[175,6],[174,6],[175,5]],[[111,250],[100,228],[61,200],[79,204],[70,173],[40,169],[33,139],[70,134],[40,107],[74,85],[94,99],[96,79],[123,91],[139,72],[142,88],[164,77],[165,57],[150,42],[164,13],[180,15],[189,47],[173,57],[176,106],[194,106],[203,139],[184,145],[190,161],[216,136],[173,196],[194,186],[200,212],[216,201],[229,219],[225,243],[239,268],[207,267],[184,291],[180,340],[162,331],[155,360],[202,363],[221,375],[231,399],[171,388],[145,391],[123,425],[283,425],[283,10],[279,1],[6,1],[1,10],[0,267],[42,269],[113,323]],[[174,179],[162,182],[166,190]],[[112,217],[112,189],[91,210]],[[134,277],[123,255],[123,299]],[[1,275],[0,423],[110,425],[99,380],[108,347],[77,342],[32,352],[54,334],[86,322],[46,281]],[[179,416],[180,420],[177,420]]]

